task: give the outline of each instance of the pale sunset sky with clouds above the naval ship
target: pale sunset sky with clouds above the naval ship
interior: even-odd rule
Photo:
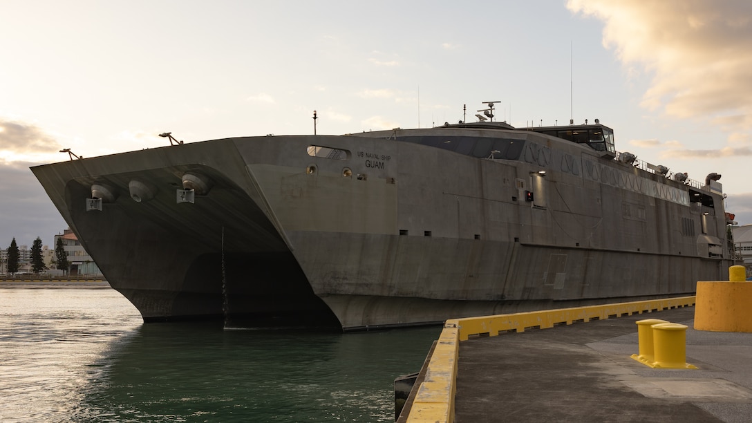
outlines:
[[[5,0],[0,246],[67,227],[29,166],[246,135],[601,123],[752,224],[748,0]]]

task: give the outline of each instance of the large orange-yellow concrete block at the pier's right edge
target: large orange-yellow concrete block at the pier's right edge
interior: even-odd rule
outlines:
[[[696,297],[696,330],[752,333],[752,283],[701,281]]]

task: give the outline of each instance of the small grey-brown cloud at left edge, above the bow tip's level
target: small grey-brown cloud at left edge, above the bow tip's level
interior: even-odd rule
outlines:
[[[0,120],[0,160],[5,163],[44,161],[44,157],[58,153],[61,148],[59,142],[38,126]]]

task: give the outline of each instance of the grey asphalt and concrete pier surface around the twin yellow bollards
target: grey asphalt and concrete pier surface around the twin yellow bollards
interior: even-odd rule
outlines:
[[[693,330],[694,310],[459,342],[454,421],[750,421],[752,333]],[[687,363],[698,370],[630,357],[635,322],[647,318],[687,325]]]

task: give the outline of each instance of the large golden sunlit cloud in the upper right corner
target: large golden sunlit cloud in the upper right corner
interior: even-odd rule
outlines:
[[[752,2],[569,0],[605,23],[603,44],[652,75],[642,105],[677,118],[752,130]]]

